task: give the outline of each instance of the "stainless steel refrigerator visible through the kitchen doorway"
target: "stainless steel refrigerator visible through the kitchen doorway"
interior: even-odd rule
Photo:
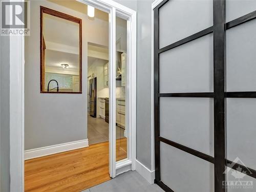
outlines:
[[[97,101],[97,78],[89,80],[89,113],[92,117],[96,117],[96,101]]]

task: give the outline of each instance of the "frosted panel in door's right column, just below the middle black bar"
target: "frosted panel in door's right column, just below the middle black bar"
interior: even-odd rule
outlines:
[[[256,99],[227,98],[227,158],[256,169]]]

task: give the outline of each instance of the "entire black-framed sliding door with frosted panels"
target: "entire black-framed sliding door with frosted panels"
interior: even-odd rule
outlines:
[[[254,10],[224,0],[154,9],[155,182],[165,191],[253,190]]]

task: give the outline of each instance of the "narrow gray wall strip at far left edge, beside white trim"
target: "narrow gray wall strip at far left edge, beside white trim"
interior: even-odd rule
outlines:
[[[0,191],[10,190],[9,37],[0,36]]]

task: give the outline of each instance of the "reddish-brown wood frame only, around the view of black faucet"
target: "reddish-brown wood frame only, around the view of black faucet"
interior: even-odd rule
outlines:
[[[45,65],[44,65],[44,45],[45,39],[44,35],[42,34],[43,30],[43,14],[53,15],[59,18],[63,18],[69,20],[71,22],[79,24],[79,92],[48,92],[45,91]],[[68,94],[81,94],[82,93],[82,19],[74,17],[72,15],[68,15],[66,13],[62,13],[59,11],[55,11],[53,9],[40,6],[40,93],[54,93],[54,94],[61,94],[61,93],[68,93]]]

